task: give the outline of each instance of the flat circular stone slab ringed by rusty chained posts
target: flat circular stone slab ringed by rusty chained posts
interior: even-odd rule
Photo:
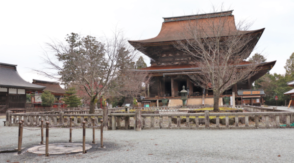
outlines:
[[[86,144],[86,150],[92,148],[91,145]],[[46,145],[39,145],[31,147],[27,150],[31,153],[36,154],[45,154]],[[49,144],[48,152],[49,154],[68,154],[68,153],[76,153],[83,151],[83,144],[81,143],[60,143],[60,144]]]

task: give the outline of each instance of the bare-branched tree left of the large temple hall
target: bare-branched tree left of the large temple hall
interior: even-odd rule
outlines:
[[[65,84],[83,87],[91,98],[90,114],[93,114],[100,98],[121,92],[128,83],[124,74],[133,68],[138,51],[129,45],[121,31],[102,41],[71,33],[66,41],[47,43],[49,50],[43,59],[48,67],[35,71]]]

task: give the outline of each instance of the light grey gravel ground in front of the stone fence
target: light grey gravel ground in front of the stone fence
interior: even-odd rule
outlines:
[[[23,154],[0,154],[0,163],[289,163],[293,160],[294,129],[248,130],[115,130],[104,131],[104,146],[87,154],[37,155],[27,148],[40,143],[40,130],[24,130]],[[69,129],[50,129],[49,143],[66,143]],[[74,143],[82,143],[82,129],[73,130]],[[0,150],[17,148],[18,127],[0,126]],[[86,130],[86,143],[92,129]],[[280,155],[280,157],[278,157]]]

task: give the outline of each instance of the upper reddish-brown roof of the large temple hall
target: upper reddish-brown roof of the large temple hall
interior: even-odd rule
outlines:
[[[211,30],[211,24],[217,24],[219,22],[225,22],[224,29],[221,30],[221,36],[230,36],[236,34],[238,31],[235,25],[235,18],[232,15],[233,10],[225,11],[220,13],[209,13],[209,14],[199,14],[199,15],[189,15],[181,17],[171,17],[163,18],[161,30],[155,38],[139,41],[129,41],[130,44],[135,45],[136,43],[144,44],[146,46],[152,46],[152,44],[164,45],[165,43],[172,43],[177,40],[193,39],[191,35],[184,30],[184,27],[189,23],[200,24],[200,28],[203,29],[201,32],[203,37],[216,37],[216,35]],[[252,31],[239,31],[239,34],[256,34],[265,30],[265,28],[252,30]],[[215,32],[215,31],[214,31]],[[201,34],[201,35],[202,35]],[[220,36],[220,35],[218,35]],[[161,44],[164,43],[164,44]]]

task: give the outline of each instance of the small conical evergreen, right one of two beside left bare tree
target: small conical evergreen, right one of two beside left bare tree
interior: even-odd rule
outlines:
[[[66,95],[64,95],[64,99],[62,99],[62,101],[65,102],[66,105],[70,106],[70,107],[77,107],[78,105],[81,105],[81,99],[78,96],[76,96],[76,90],[74,87],[70,87],[68,89],[68,91],[65,91]]]

